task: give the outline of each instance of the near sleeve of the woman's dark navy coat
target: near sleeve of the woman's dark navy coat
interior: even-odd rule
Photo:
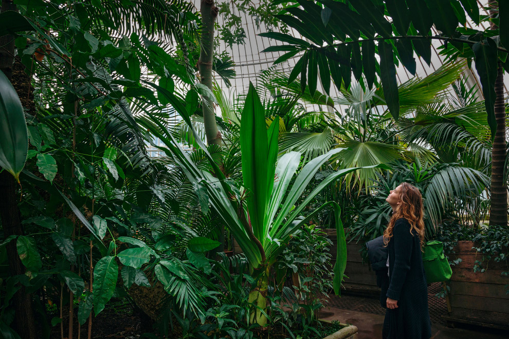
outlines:
[[[413,240],[410,234],[410,224],[405,219],[397,220],[392,232],[393,236],[390,241],[394,241],[394,265],[389,268],[392,273],[387,297],[399,300],[399,294],[410,270]]]

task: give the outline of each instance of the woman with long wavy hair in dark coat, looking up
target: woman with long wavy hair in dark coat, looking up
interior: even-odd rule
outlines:
[[[431,322],[424,273],[424,206],[419,190],[402,183],[386,201],[393,213],[384,232],[389,269],[382,293],[387,297],[384,339],[429,339]]]

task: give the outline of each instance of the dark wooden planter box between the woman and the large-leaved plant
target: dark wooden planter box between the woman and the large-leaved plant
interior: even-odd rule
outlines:
[[[331,254],[333,258],[332,265],[336,263],[337,236],[335,229],[324,230],[329,239],[332,240]],[[362,263],[360,250],[364,243],[355,243],[355,240],[348,242],[347,238],[347,267],[344,274],[343,286],[347,294],[380,297],[380,288],[376,286],[375,272],[370,270],[368,263]]]

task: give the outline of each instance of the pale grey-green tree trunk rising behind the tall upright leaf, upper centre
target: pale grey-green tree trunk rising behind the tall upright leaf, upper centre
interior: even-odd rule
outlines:
[[[202,47],[199,53],[198,69],[201,83],[212,90],[212,61],[214,57],[214,23],[219,9],[214,0],[202,0],[200,13],[202,13]],[[205,135],[209,145],[221,145],[221,133],[215,122],[214,104],[203,98],[203,120]]]

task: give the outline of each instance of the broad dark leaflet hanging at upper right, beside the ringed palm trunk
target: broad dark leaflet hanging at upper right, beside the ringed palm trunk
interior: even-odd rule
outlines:
[[[476,70],[482,85],[484,104],[488,115],[488,124],[492,130],[492,138],[495,138],[497,121],[495,120],[495,80],[498,74],[497,44],[487,37],[472,46],[476,55]]]

